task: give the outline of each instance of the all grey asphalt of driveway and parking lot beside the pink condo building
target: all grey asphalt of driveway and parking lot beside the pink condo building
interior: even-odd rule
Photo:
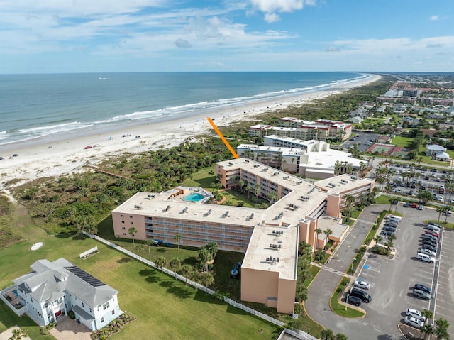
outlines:
[[[331,261],[323,266],[323,270],[309,286],[308,300],[304,307],[309,316],[324,327],[332,329],[334,333],[341,332],[349,339],[403,339],[397,324],[403,322],[406,308],[419,310],[434,309],[436,318],[443,317],[454,325],[454,289],[453,280],[450,280],[450,272],[454,265],[449,258],[454,255],[454,232],[445,232],[441,248],[440,274],[436,273],[435,265],[416,260],[416,252],[419,248],[421,234],[423,234],[423,220],[437,219],[438,213],[433,209],[422,211],[403,208],[402,204],[397,207],[398,212],[406,216],[399,224],[394,241],[397,255],[394,259],[384,258],[370,254],[362,263],[358,276],[371,283],[370,295],[372,302],[362,304],[361,307],[367,312],[361,319],[348,319],[334,314],[329,307],[329,299],[336,286],[341,280],[341,273],[345,273],[355,256],[372,223],[383,209],[389,205],[375,205],[367,207],[361,214],[355,227],[338,247],[336,255]],[[356,230],[358,228],[358,230]],[[453,252],[453,253],[452,253]],[[436,263],[438,265],[438,261]],[[435,277],[434,277],[435,276]],[[436,300],[429,301],[416,299],[412,295],[412,287],[415,283],[421,283],[438,290]],[[429,305],[430,303],[430,305]],[[450,332],[453,332],[451,327]],[[451,334],[451,336],[453,336]]]

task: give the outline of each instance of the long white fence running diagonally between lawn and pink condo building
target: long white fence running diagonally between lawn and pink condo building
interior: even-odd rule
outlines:
[[[128,251],[125,248],[122,248],[121,246],[117,246],[115,243],[112,243],[111,241],[104,240],[104,238],[101,238],[101,237],[96,236],[96,235],[88,234],[85,231],[82,231],[82,233],[84,235],[90,237],[90,238],[94,238],[96,241],[99,241],[101,243],[106,244],[107,246],[110,246],[110,247],[116,249],[117,251],[121,251],[121,253],[125,253],[126,255],[131,256],[132,258],[135,258],[136,260],[145,263],[146,265],[150,265],[151,267],[156,268],[157,270],[162,270],[162,273],[166,273],[167,275],[170,275],[170,276],[172,276],[174,278],[177,278],[178,280],[180,280],[180,281],[182,281],[184,283],[187,283],[188,285],[192,285],[193,287],[196,287],[199,290],[207,292],[210,295],[214,295],[215,294],[214,290],[211,290],[211,289],[209,289],[209,288],[207,288],[207,287],[205,287],[203,285],[200,285],[199,283],[196,283],[196,282],[194,282],[192,280],[189,280],[188,278],[185,278],[182,275],[179,275],[179,274],[177,274],[175,272],[172,272],[172,270],[168,270],[167,268],[164,268],[164,267],[160,268],[154,262],[149,261],[146,258],[142,258],[141,256],[138,256],[137,254],[135,254],[135,253],[133,253],[131,251]],[[230,299],[228,297],[224,297],[223,300],[225,302],[227,302],[229,305],[233,306],[233,307],[243,309],[245,312],[253,314],[256,317],[260,317],[260,319],[264,319],[267,322],[271,322],[272,324],[275,324],[275,325],[277,325],[279,327],[284,327],[286,325],[285,322],[279,321],[279,320],[277,320],[277,319],[275,319],[273,317],[270,317],[267,314],[263,314],[262,312],[258,312],[257,310],[252,309],[250,307],[247,307],[247,306],[245,306],[243,304],[240,304],[239,302],[236,302],[235,300],[232,300],[232,299]],[[292,334],[293,336],[297,337],[297,339],[301,339],[301,340],[317,340],[317,338],[314,338],[314,336],[311,336],[310,334],[307,334],[304,331],[299,331],[298,333],[295,332],[295,331],[291,331],[289,329],[287,329],[286,331],[288,331],[289,334]]]

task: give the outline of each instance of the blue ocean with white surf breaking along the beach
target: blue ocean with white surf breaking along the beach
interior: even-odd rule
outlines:
[[[353,72],[0,75],[0,146],[84,128],[187,118],[365,78]]]

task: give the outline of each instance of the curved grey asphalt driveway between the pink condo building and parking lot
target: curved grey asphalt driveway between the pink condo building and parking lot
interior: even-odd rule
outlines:
[[[324,270],[320,270],[309,286],[308,299],[304,301],[304,308],[311,319],[331,329],[335,334],[345,334],[348,339],[372,339],[370,338],[372,335],[369,330],[370,326],[365,327],[367,324],[365,319],[339,317],[331,311],[329,300],[341,281],[339,274],[347,272],[377,216],[388,207],[388,204],[375,204],[362,211],[360,218],[338,246],[329,263],[323,266]]]

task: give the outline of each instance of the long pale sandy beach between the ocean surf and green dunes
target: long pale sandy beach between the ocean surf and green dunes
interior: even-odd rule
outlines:
[[[84,170],[84,165],[96,165],[102,160],[123,153],[142,153],[177,146],[187,138],[214,133],[207,117],[225,126],[242,119],[260,119],[265,111],[299,105],[321,99],[353,87],[374,82],[378,75],[341,84],[335,89],[310,92],[297,97],[262,100],[245,106],[229,106],[223,110],[203,111],[186,119],[147,123],[131,121],[130,124],[109,126],[104,129],[84,129],[65,135],[50,135],[29,141],[0,146],[0,189],[39,177],[55,177]],[[92,148],[86,148],[91,146]],[[17,155],[17,156],[13,156]],[[13,181],[13,184],[9,183]]]

